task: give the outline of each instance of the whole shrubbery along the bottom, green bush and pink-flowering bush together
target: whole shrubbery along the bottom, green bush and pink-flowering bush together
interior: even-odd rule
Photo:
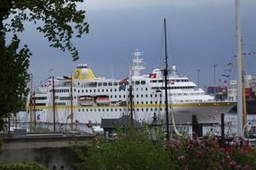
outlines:
[[[103,139],[79,153],[78,169],[256,169],[256,150],[244,140],[221,147],[211,136],[176,138],[153,143],[145,132],[119,133],[116,140]]]

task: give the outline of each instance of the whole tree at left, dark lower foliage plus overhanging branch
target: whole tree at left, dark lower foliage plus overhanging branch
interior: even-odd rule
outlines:
[[[76,9],[76,4],[82,2],[84,0],[0,0],[0,131],[4,118],[21,109],[22,97],[28,93],[31,52],[27,45],[19,47],[18,38],[24,22],[34,22],[37,30],[48,38],[50,47],[68,50],[77,60],[73,35],[81,38],[89,31],[89,24],[84,21],[85,12]],[[12,38],[8,45],[7,34]]]

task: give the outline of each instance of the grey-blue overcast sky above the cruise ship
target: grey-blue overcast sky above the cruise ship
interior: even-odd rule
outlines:
[[[22,34],[23,43],[33,56],[29,72],[39,85],[51,74],[73,73],[75,66],[86,63],[97,77],[128,77],[131,51],[144,52],[146,71],[163,63],[163,18],[167,20],[169,65],[177,65],[200,87],[235,79],[229,63],[235,67],[234,0],[85,0],[79,4],[86,11],[90,33],[75,39],[81,58],[73,62],[68,53],[49,48],[47,39],[31,23]],[[256,52],[256,0],[241,0],[242,34],[245,52]],[[245,56],[245,72],[256,74],[256,55]]]

